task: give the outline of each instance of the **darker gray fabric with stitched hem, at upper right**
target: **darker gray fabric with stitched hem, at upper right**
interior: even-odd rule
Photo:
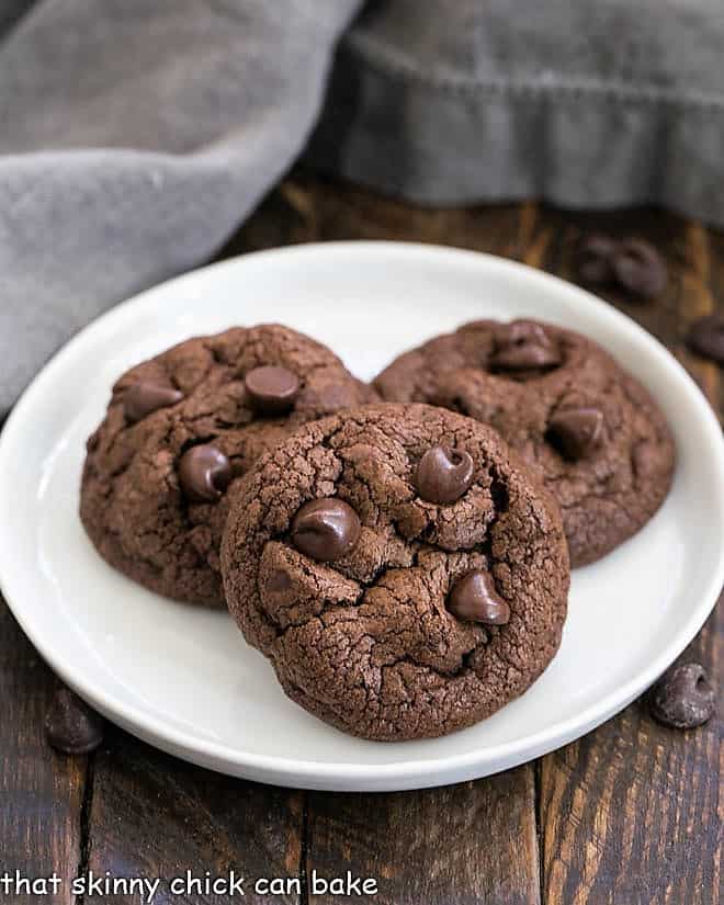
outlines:
[[[657,204],[724,225],[724,2],[372,4],[307,159],[423,203]]]

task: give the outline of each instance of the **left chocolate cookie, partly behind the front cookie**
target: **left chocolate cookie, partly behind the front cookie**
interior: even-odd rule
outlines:
[[[88,441],[86,531],[139,584],[222,607],[218,547],[240,476],[294,428],[375,395],[329,349],[286,327],[174,346],[113,387]]]

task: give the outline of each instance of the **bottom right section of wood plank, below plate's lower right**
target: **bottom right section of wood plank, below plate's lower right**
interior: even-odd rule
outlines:
[[[722,607],[685,659],[720,676]],[[659,726],[638,701],[543,758],[541,825],[548,902],[716,905],[721,720]]]

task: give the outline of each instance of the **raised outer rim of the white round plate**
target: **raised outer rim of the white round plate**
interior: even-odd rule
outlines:
[[[671,377],[676,378],[681,385],[681,388],[686,391],[688,397],[687,403],[695,409],[702,428],[709,433],[713,444],[719,446],[719,455],[716,456],[719,487],[716,489],[719,491],[720,506],[724,511],[724,438],[722,437],[720,423],[708,399],[683,365],[677,361],[652,333],[627,315],[619,312],[586,290],[554,274],[546,273],[545,271],[538,270],[519,261],[487,252],[449,246],[387,240],[308,242],[248,252],[196,268],[171,280],[163,281],[121,302],[92,320],[71,337],[33,378],[20,399],[15,403],[0,431],[0,511],[2,509],[1,497],[4,489],[3,474],[7,473],[3,466],[5,462],[9,461],[12,449],[15,445],[13,442],[15,435],[22,435],[23,423],[26,417],[32,415],[36,399],[46,391],[46,387],[52,384],[55,374],[65,366],[66,361],[76,354],[76,349],[87,342],[89,336],[98,335],[98,340],[103,339],[109,331],[113,331],[122,321],[132,319],[136,310],[143,309],[147,305],[152,305],[156,294],[163,294],[171,286],[193,283],[200,279],[203,280],[210,271],[233,270],[252,259],[278,259],[280,256],[285,258],[304,258],[308,256],[318,257],[319,254],[335,257],[340,252],[349,253],[350,251],[363,256],[394,254],[415,257],[423,254],[439,259],[456,258],[460,261],[485,262],[487,265],[509,270],[510,273],[517,276],[550,283],[554,289],[568,294],[572,299],[578,296],[580,304],[592,307],[593,313],[604,320],[608,320],[612,327],[621,328],[629,333],[633,331],[635,338],[646,347],[647,353],[657,358],[670,372]],[[454,261],[452,263],[454,264]],[[12,530],[5,525],[4,520],[0,522],[0,536],[2,535],[12,535]],[[371,765],[327,760],[294,760],[289,757],[279,757],[275,755],[240,751],[238,748],[229,745],[200,738],[199,736],[176,728],[168,723],[162,724],[162,734],[159,734],[158,721],[155,723],[151,714],[147,714],[143,710],[137,710],[133,704],[126,704],[113,693],[102,690],[97,691],[90,687],[87,678],[83,677],[82,670],[76,669],[72,664],[66,664],[61,657],[58,658],[52,649],[52,645],[46,643],[42,633],[39,637],[36,635],[32,616],[27,615],[27,610],[23,608],[22,602],[14,600],[15,592],[19,598],[22,598],[22,593],[21,589],[15,587],[15,579],[12,576],[13,572],[19,573],[22,570],[22,567],[13,569],[13,566],[8,564],[8,561],[9,557],[0,556],[0,588],[23,632],[52,669],[77,693],[112,722],[121,724],[132,734],[144,738],[146,742],[166,751],[193,762],[202,763],[205,767],[220,772],[230,772],[235,776],[248,776],[252,779],[281,785],[294,784],[320,790],[351,790],[350,783],[352,783],[354,790],[361,791],[366,789],[401,790],[459,782],[474,776],[487,774],[487,772],[476,772],[476,765],[478,765],[483,754],[485,755],[486,761],[505,760],[509,766],[499,769],[509,769],[534,757],[540,757],[587,734],[623,710],[634,698],[645,691],[645,689],[664,672],[669,664],[681,654],[713,610],[720,596],[722,584],[724,582],[724,545],[722,545],[716,568],[712,569],[699,602],[692,607],[688,620],[676,636],[659,651],[656,657],[648,661],[642,669],[637,670],[625,683],[589,704],[574,716],[559,722],[553,722],[545,729],[541,729],[533,735],[527,735],[514,742],[485,746],[484,748],[459,755],[453,754],[438,758],[416,760],[400,759],[394,763]],[[531,755],[530,751],[532,750],[538,753]],[[483,771],[485,771],[485,768],[483,768]]]

